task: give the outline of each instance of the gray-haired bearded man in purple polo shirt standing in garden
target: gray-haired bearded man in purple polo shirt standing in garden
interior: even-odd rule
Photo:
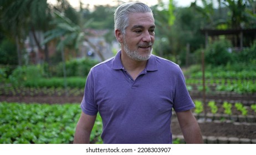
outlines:
[[[186,143],[202,143],[181,69],[151,54],[151,9],[144,3],[125,3],[116,9],[114,19],[121,50],[90,70],[74,143],[89,143],[98,112],[104,143],[172,143],[172,108]]]

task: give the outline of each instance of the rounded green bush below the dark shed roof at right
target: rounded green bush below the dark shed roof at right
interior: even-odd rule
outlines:
[[[226,39],[217,40],[213,44],[209,44],[205,51],[206,63],[219,66],[232,62],[232,54],[229,53],[228,48],[231,48],[231,43]]]

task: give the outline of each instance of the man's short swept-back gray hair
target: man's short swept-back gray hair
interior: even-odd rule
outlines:
[[[119,29],[122,34],[125,34],[125,29],[129,25],[130,13],[146,13],[150,12],[153,16],[152,10],[149,6],[141,2],[124,3],[117,7],[114,14],[115,29]]]

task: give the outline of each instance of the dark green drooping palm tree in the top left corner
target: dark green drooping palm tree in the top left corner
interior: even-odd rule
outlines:
[[[18,64],[22,65],[21,50],[24,48],[25,37],[32,32],[35,43],[40,53],[42,46],[35,33],[38,30],[46,30],[50,18],[50,9],[47,0],[2,0],[0,2],[1,26],[8,38],[16,40],[18,51]]]

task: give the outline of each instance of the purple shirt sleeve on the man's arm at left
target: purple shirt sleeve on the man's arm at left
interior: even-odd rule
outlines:
[[[93,70],[90,70],[85,83],[83,100],[80,105],[81,110],[87,115],[94,116],[98,113],[98,106],[94,99],[94,76]]]

